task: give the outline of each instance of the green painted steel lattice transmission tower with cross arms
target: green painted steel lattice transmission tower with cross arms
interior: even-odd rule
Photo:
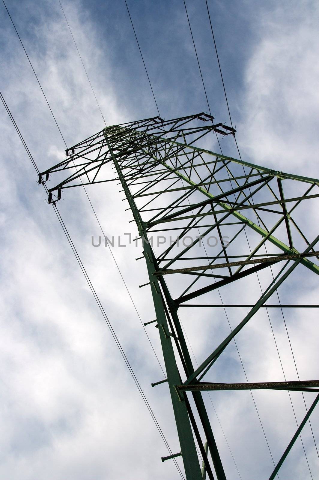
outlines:
[[[205,120],[206,122],[211,121],[212,125],[209,124],[205,126],[198,126],[198,124],[194,124],[194,121],[198,121],[198,119]],[[48,174],[63,171],[69,172],[70,169],[72,170],[71,174],[65,180],[60,182],[56,187],[48,190],[51,195],[56,190],[58,190],[59,192],[61,188],[71,188],[73,186],[78,186],[82,184],[86,185],[105,181],[119,180],[122,185],[123,191],[126,195],[126,199],[129,202],[129,207],[133,214],[134,221],[137,225],[140,237],[143,240],[143,256],[145,258],[147,266],[149,284],[151,286],[154,309],[156,313],[156,320],[152,322],[146,322],[145,325],[156,322],[158,327],[165,361],[167,382],[169,385],[169,391],[172,399],[172,405],[177,425],[177,433],[181,447],[181,454],[184,462],[186,477],[188,480],[198,480],[202,478],[192,429],[199,444],[201,455],[203,458],[202,472],[207,471],[209,478],[214,478],[207,457],[208,447],[212,456],[213,467],[217,479],[225,480],[226,478],[218,448],[213,436],[209,417],[201,396],[201,390],[205,389],[205,387],[201,388],[201,385],[205,384],[200,384],[199,381],[204,376],[204,374],[208,372],[208,370],[212,367],[215,360],[221,355],[229,342],[244,327],[244,325],[247,324],[247,322],[253,317],[253,315],[258,312],[260,308],[267,308],[267,305],[265,305],[265,301],[272,296],[272,294],[284,282],[284,280],[290,275],[290,273],[299,263],[306,266],[313,273],[317,275],[319,274],[319,266],[309,260],[310,256],[317,258],[319,257],[319,252],[316,252],[314,250],[314,247],[319,240],[319,236],[311,243],[308,242],[306,236],[302,233],[301,229],[296,225],[295,221],[291,217],[292,211],[298,204],[300,204],[301,201],[310,198],[314,199],[319,196],[317,194],[308,195],[308,193],[314,186],[319,186],[319,180],[275,171],[265,167],[260,167],[249,162],[237,160],[236,158],[219,155],[209,150],[193,145],[195,141],[201,139],[201,137],[203,137],[205,134],[213,132],[216,126],[219,129],[217,130],[217,132],[220,132],[221,124],[213,125],[213,118],[203,113],[166,121],[160,119],[159,117],[154,117],[151,119],[128,122],[122,125],[112,125],[110,127],[107,127],[106,129],[103,129],[103,131],[92,135],[83,142],[80,142],[79,144],[76,144],[73,147],[69,148],[69,150],[67,151],[67,155],[69,155],[70,158],[67,158],[67,160],[65,161],[59,162],[57,165],[41,173],[39,176],[39,183],[42,183],[45,181],[43,180],[43,177],[46,176],[47,179]],[[222,128],[224,128],[223,125]],[[190,138],[189,143],[187,143],[186,137]],[[196,137],[195,140],[194,137]],[[179,138],[182,138],[184,143],[178,142],[177,139]],[[94,158],[90,158],[90,156],[93,156]],[[203,156],[208,156],[209,160],[206,161]],[[181,159],[185,160],[185,157],[186,161],[184,163],[181,163]],[[210,158],[212,158],[212,160],[210,160]],[[198,160],[201,163],[198,163]],[[101,168],[109,162],[112,162],[114,164],[117,176],[113,179],[101,180],[100,177],[98,177]],[[237,173],[234,176],[229,169],[232,164],[240,165],[244,170],[244,175]],[[75,172],[74,166],[76,167]],[[206,167],[210,172],[206,178],[201,178],[200,174],[198,173],[198,169],[201,167]],[[246,173],[245,167],[250,169],[249,173]],[[215,178],[217,172],[220,172],[222,169],[227,172],[228,179],[226,176],[224,179]],[[191,176],[195,173],[200,179],[200,181],[192,180]],[[94,176],[92,177],[93,174]],[[81,183],[74,184],[77,179],[80,179]],[[83,179],[85,179],[84,182]],[[177,180],[174,180],[174,182],[170,184],[169,187],[165,187],[165,189],[161,190],[160,188],[157,188],[155,192],[152,191],[152,188],[155,185],[160,186],[161,181],[165,181],[167,179],[170,181],[172,179]],[[277,181],[278,195],[274,193],[272,187],[270,186],[270,182],[272,182],[272,180],[274,179]],[[305,192],[305,194],[302,196],[295,198],[285,198],[283,188],[284,180],[303,182],[306,184],[310,184],[310,186]],[[182,181],[182,187],[175,186],[178,181]],[[229,182],[231,185],[231,189],[224,191],[221,188],[223,182]],[[235,183],[235,186],[233,186],[232,182]],[[132,193],[132,185],[135,187],[137,185],[141,185],[141,187],[137,192]],[[210,188],[213,185],[218,185],[220,193],[213,194],[212,192],[210,192]],[[257,204],[254,204],[253,196],[256,196],[256,193],[264,188],[268,188],[269,191],[272,192],[275,200],[271,202],[258,202]],[[251,191],[251,189],[255,190]],[[249,191],[249,193],[246,193],[247,191]],[[145,207],[151,204],[154,201],[154,198],[157,198],[167,192],[181,192],[181,196],[178,197],[178,199],[173,203],[165,204],[163,207],[161,207],[161,209],[157,209],[160,210],[159,212],[156,213],[155,209],[155,211],[153,212],[153,217],[147,221],[143,221],[141,214],[143,212],[152,211],[152,209],[147,210],[145,209]],[[206,197],[206,200],[201,202],[197,201],[191,204],[189,201],[189,197],[194,192],[204,195],[204,197]],[[142,197],[145,197],[147,199],[149,196],[152,197],[152,195],[156,196],[154,196],[154,198],[151,198],[151,200],[149,200],[142,207],[137,206],[137,199],[141,199]],[[234,195],[235,202],[229,201],[228,197],[231,195]],[[244,199],[239,201],[240,196]],[[188,200],[189,205],[181,205],[181,202],[183,202],[185,199]],[[290,210],[287,210],[287,205],[289,204],[289,202],[295,202],[295,204],[293,204]],[[213,204],[218,205],[221,210],[215,210]],[[270,210],[269,207],[272,205],[277,205],[281,207],[282,211]],[[177,210],[174,210],[174,208],[176,208]],[[205,211],[205,209],[207,208],[211,208],[211,210]],[[241,213],[241,211],[244,209],[253,210],[258,220],[258,224]],[[265,210],[269,213],[280,214],[280,218],[275,223],[275,225],[268,230],[264,226],[258,214],[258,210]],[[222,219],[218,219],[217,216],[221,214],[225,215],[222,217]],[[214,223],[204,226],[200,225],[201,219],[210,218],[210,215],[213,216]],[[229,216],[235,217],[237,222],[229,222]],[[177,260],[187,259],[185,254],[189,251],[190,248],[194,246],[196,242],[200,240],[196,240],[193,245],[191,245],[190,247],[186,247],[178,255],[173,255],[172,258],[168,258],[167,255],[172,250],[174,245],[170,246],[165,250],[165,252],[162,252],[159,256],[156,257],[154,249],[149,242],[149,233],[156,231],[154,230],[154,227],[156,226],[160,228],[157,231],[172,230],[171,228],[163,227],[163,225],[167,224],[168,222],[176,222],[180,220],[187,220],[189,223],[185,228],[179,228],[182,229],[182,231],[178,234],[178,238],[182,238],[183,236],[185,236],[191,228],[197,228],[199,230],[199,227],[207,227],[208,230],[206,230],[205,234],[212,231],[213,228],[216,228],[216,230],[218,231],[218,235],[222,243],[222,250],[217,256],[212,257],[212,261],[208,265],[203,265],[201,267],[195,265],[186,268],[177,268],[175,270],[168,269],[168,267]],[[226,223],[225,220],[228,223]],[[261,226],[260,223],[263,226]],[[284,223],[286,228],[288,245],[284,241],[279,240],[273,235],[274,231],[279,227],[279,225],[281,225],[281,223]],[[229,258],[231,258],[231,256],[229,258],[227,256],[226,247],[222,242],[222,234],[220,227],[222,225],[236,224],[241,225],[242,228],[239,229],[238,233],[236,233],[236,235],[231,239],[231,242],[236,239],[236,236],[245,227],[251,228],[254,232],[259,234],[261,240],[257,244],[257,246],[250,252],[250,254],[245,256],[244,261],[230,262]],[[303,240],[307,244],[307,248],[305,248],[304,252],[300,253],[298,250],[295,249],[293,245],[293,237],[290,229],[291,225],[293,225],[298,230]],[[256,260],[256,257],[261,256],[256,252],[258,252],[262,245],[265,245],[266,241],[270,242],[272,245],[274,245],[276,248],[280,249],[284,253],[282,255],[278,255],[278,253],[267,253],[268,257]],[[223,256],[221,256],[222,253]],[[238,258],[240,257],[240,255],[235,257]],[[189,258],[190,260],[192,260],[191,257]],[[194,257],[193,260],[196,260],[196,258],[201,257]],[[205,258],[208,259],[208,257]],[[220,260],[222,258],[225,259],[225,262],[223,264],[214,264],[216,260]],[[189,305],[185,302],[187,302],[191,298],[196,298],[209,291],[212,291],[215,288],[227,285],[228,283],[235,281],[236,279],[244,278],[251,273],[258,272],[261,268],[265,268],[269,265],[274,264],[275,262],[278,263],[279,261],[283,260],[285,261],[283,268],[274,277],[269,287],[262,292],[260,299],[257,300],[254,305],[246,305],[252,308],[245,316],[245,318],[236,326],[236,328],[231,332],[231,334],[226,336],[226,338],[221,342],[221,344],[213,350],[213,353],[206,360],[204,360],[204,362],[202,362],[196,370],[194,370],[189,355],[189,349],[187,347],[183,330],[181,328],[181,324],[177,315],[177,309],[179,308],[179,306],[181,306],[181,304],[183,303],[182,306],[185,307],[213,307],[215,305]],[[165,266],[163,267],[160,266],[162,262],[166,262]],[[289,262],[293,262],[290,267],[288,267]],[[249,264],[257,265],[241,271]],[[236,272],[233,272],[231,270],[231,268],[234,266],[238,266]],[[228,276],[217,275],[215,272],[213,273],[213,268],[223,269],[226,267],[229,271]],[[212,270],[211,274],[207,273],[207,271],[209,270]],[[182,295],[176,300],[172,299],[169,289],[165,283],[164,276],[168,273],[192,275],[194,276],[193,278],[195,278],[194,281],[191,282],[190,286],[184,291],[184,293],[182,293]],[[213,277],[215,284],[208,285],[206,287],[197,289],[186,294],[189,288],[191,288],[199,278],[208,277]],[[218,280],[217,282],[216,278]],[[165,304],[165,301],[167,303],[167,306]],[[240,304],[234,304],[231,306],[236,307],[240,306]],[[275,307],[276,305],[269,306]],[[290,308],[293,307],[293,305],[290,304],[288,306]],[[313,305],[313,307],[316,307],[316,305]],[[173,348],[173,342],[177,349],[179,359],[186,375],[186,380],[184,383],[181,382],[181,374],[177,367],[177,360]],[[163,383],[165,381],[166,380],[156,382],[152,385]],[[295,390],[315,390],[311,388],[309,389],[307,387],[304,388],[300,384],[295,384],[294,386],[295,388],[293,388],[292,383],[289,382],[281,382],[281,387],[278,388],[289,389],[291,387],[291,389]],[[250,387],[254,388],[253,386]],[[245,387],[243,386],[243,388]],[[201,421],[201,428],[204,432],[205,439],[207,440],[207,446],[206,444],[204,446],[203,442],[201,441],[201,434],[192,413],[188,396],[186,395],[187,390],[190,390],[190,393],[193,397],[193,402],[197,408],[197,414]],[[310,413],[312,412],[315,404],[318,401],[318,398],[319,396],[316,397],[316,400],[307,412],[305,419],[299,425],[297,432],[295,433],[292,441],[284,452],[284,455],[282,456],[274,472],[272,473],[270,480],[273,479],[278,472],[280,466],[284,461],[284,458],[287,456],[289,450],[291,449],[292,444],[295,442],[295,439],[297,438],[301,429],[308,420]]]

